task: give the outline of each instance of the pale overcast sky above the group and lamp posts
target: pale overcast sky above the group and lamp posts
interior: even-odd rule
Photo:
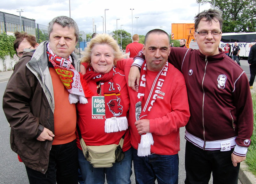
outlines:
[[[70,6],[71,18],[76,21],[79,30],[85,33],[92,33],[93,18],[96,32],[103,32],[102,17],[105,24],[105,9],[109,9],[106,11],[106,33],[116,30],[116,19],[119,18],[117,29],[122,25],[123,30],[140,35],[145,35],[156,28],[171,33],[172,23],[194,23],[194,17],[199,11],[196,0],[70,0]],[[200,4],[200,12],[209,8],[211,8],[210,4]],[[48,25],[54,17],[60,15],[69,17],[69,0],[4,0],[1,2],[0,11],[19,16],[17,9],[24,9],[21,16],[35,19],[38,24]]]

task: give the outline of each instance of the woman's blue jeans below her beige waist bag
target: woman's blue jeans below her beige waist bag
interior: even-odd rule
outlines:
[[[122,162],[116,162],[112,167],[94,168],[88,162],[82,150],[78,148],[78,161],[85,184],[104,184],[105,174],[108,184],[131,184],[132,148],[124,152]]]

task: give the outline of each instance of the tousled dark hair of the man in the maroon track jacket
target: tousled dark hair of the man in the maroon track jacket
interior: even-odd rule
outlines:
[[[223,19],[221,18],[220,11],[215,9],[209,9],[198,13],[195,17],[195,31],[197,30],[198,24],[202,18],[206,18],[206,21],[208,22],[212,22],[212,20],[216,21],[217,19],[220,22],[220,31],[222,30]]]

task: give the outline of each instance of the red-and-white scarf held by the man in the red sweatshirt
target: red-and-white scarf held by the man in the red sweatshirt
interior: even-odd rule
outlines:
[[[147,64],[144,61],[143,69],[141,70],[140,75],[140,85],[139,91],[137,95],[137,100],[135,104],[135,117],[136,121],[140,119],[146,119],[146,117],[150,113],[155,113],[152,108],[154,107],[154,103],[157,103],[157,96],[161,90],[161,87],[164,83],[166,73],[168,71],[168,62],[166,62],[165,66],[158,72],[156,79],[153,82],[151,87],[149,96],[147,97],[147,101],[145,104],[142,104],[143,97],[145,96],[145,89],[146,89],[146,74],[147,74]],[[143,109],[142,109],[143,108]],[[150,147],[154,144],[153,136],[151,133],[143,133],[141,134],[140,144],[138,146],[138,153],[137,155],[140,157],[150,155]]]

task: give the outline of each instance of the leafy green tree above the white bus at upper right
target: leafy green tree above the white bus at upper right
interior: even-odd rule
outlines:
[[[196,0],[197,3],[211,4],[214,0]],[[215,9],[222,13],[222,32],[255,32],[256,1],[215,0]]]

